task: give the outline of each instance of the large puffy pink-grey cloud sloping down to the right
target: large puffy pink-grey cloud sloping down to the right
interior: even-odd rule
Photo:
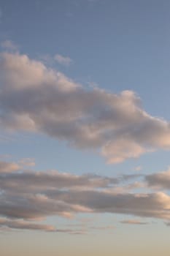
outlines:
[[[1,53],[0,88],[1,130],[45,133],[109,163],[170,148],[169,122],[144,111],[134,91],[85,89],[19,53]]]

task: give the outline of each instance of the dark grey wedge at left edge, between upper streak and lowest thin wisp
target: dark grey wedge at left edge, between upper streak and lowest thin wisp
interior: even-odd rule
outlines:
[[[1,195],[0,215],[18,219],[39,219],[48,216],[72,217],[77,212],[90,212],[85,206],[53,200],[45,195]]]

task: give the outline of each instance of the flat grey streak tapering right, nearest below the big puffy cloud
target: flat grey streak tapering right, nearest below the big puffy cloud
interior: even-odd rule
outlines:
[[[6,165],[7,167],[6,167]],[[15,163],[5,163],[6,169],[0,162],[0,189],[8,190],[12,194],[17,192],[36,192],[40,193],[45,189],[89,189],[93,187],[112,187],[119,182],[117,178],[109,178],[96,175],[76,176],[70,173],[59,173],[58,171],[48,172],[9,172],[18,167]],[[2,165],[2,167],[1,167]],[[10,167],[10,168],[9,168]],[[16,170],[16,169],[15,169]],[[4,175],[6,173],[6,175]]]

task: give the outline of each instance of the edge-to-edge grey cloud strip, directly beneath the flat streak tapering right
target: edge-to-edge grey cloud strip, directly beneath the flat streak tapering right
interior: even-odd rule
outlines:
[[[0,214],[9,218],[39,219],[55,215],[72,217],[72,214],[90,212],[170,219],[170,197],[163,192],[116,195],[97,190],[61,189],[44,193],[20,197],[1,195]]]

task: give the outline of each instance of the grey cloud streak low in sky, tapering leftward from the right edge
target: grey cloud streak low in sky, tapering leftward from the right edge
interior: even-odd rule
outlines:
[[[78,204],[100,213],[132,214],[137,217],[170,218],[170,197],[163,192],[148,194],[115,194],[105,191],[69,191],[55,195],[48,192],[53,199]]]

